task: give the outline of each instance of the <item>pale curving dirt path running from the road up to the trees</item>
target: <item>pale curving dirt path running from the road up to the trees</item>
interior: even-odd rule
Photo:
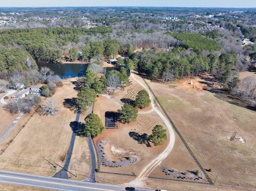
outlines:
[[[131,181],[130,183],[128,183],[128,185],[133,185],[134,187],[138,187],[138,186],[146,187],[146,177],[172,151],[172,148],[174,146],[175,136],[174,136],[174,131],[172,129],[172,126],[171,126],[170,122],[166,119],[166,117],[160,112],[158,107],[154,104],[154,101],[153,101],[154,97],[153,97],[152,93],[148,90],[148,87],[146,87],[146,85],[144,85],[144,83],[142,83],[140,81],[141,80],[140,77],[138,77],[137,75],[135,77],[134,73],[132,73],[131,76],[142,87],[144,87],[144,89],[146,89],[148,91],[149,96],[150,96],[150,100],[151,100],[152,110],[154,110],[160,116],[160,118],[163,120],[163,122],[166,124],[166,127],[167,127],[168,132],[169,132],[169,136],[170,136],[170,139],[169,139],[170,142],[169,142],[168,146],[166,147],[166,149],[157,158],[152,160],[146,167],[144,167],[142,172],[137,176],[137,178],[134,181]],[[152,110],[150,110],[148,112],[152,112]]]

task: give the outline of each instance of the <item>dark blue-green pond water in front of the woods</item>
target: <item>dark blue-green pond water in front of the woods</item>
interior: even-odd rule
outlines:
[[[54,75],[58,75],[62,79],[64,78],[73,78],[73,77],[82,77],[88,67],[88,64],[77,64],[77,63],[68,63],[68,64],[54,64],[54,63],[36,63],[38,68],[48,67],[54,71]],[[118,69],[119,67],[107,67],[106,73],[111,70]]]

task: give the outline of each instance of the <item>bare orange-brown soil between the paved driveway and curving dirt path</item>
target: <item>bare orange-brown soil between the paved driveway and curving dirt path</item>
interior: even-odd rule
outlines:
[[[94,105],[94,113],[100,116],[102,123],[104,124],[104,114],[106,111],[117,111],[121,108],[122,104],[124,104],[124,102],[122,102],[123,98],[134,100],[135,94],[137,94],[141,89],[143,88],[134,82],[130,87],[126,87],[124,91],[108,96],[100,96],[97,98],[96,104]],[[109,165],[106,166],[105,163],[103,165],[101,163],[100,171],[138,175],[144,166],[156,158],[156,156],[166,148],[168,141],[166,141],[162,146],[154,146],[154,144],[148,140],[148,135],[152,133],[152,128],[156,124],[160,124],[166,128],[164,122],[162,122],[156,112],[150,112],[150,108],[139,111],[142,113],[139,112],[138,118],[135,122],[131,122],[129,124],[119,123],[118,129],[105,129],[102,135],[94,138],[94,141],[98,145],[98,152],[100,152],[100,154],[103,154],[104,152],[104,158],[107,158],[108,161],[115,161],[115,163],[120,162],[120,165],[122,162],[130,163],[127,158],[129,156],[131,157],[131,165],[109,167]],[[143,111],[147,113],[144,114]],[[104,148],[100,149],[99,145]],[[102,150],[102,152],[100,150]],[[135,159],[137,159],[137,161]],[[111,165],[113,166],[112,163]],[[97,181],[100,181],[104,177],[103,173],[97,173],[96,175]],[[116,178],[117,177],[113,175],[108,179],[111,179],[111,181],[117,181]],[[124,183],[127,182],[128,179],[132,180],[128,177],[119,177],[118,182]]]

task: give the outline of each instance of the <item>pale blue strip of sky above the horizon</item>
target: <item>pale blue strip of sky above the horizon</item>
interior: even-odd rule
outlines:
[[[256,0],[0,0],[0,7],[157,6],[256,8]]]

